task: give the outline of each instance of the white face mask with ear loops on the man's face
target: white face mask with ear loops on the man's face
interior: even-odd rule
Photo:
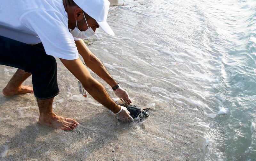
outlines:
[[[84,14],[84,12],[83,12]],[[86,21],[86,18],[84,16],[84,19],[85,19],[85,22],[87,24],[87,21]],[[87,24],[88,26],[88,24]],[[80,31],[78,28],[77,28],[77,22],[76,22],[76,27],[74,28],[74,30],[71,30],[70,32],[74,37],[76,38],[79,38],[79,39],[85,39],[85,38],[88,38],[88,37],[91,37],[92,35],[95,34],[95,32],[92,30],[92,28],[88,26],[88,29],[85,30],[85,31]]]

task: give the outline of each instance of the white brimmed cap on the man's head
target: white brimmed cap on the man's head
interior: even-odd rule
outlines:
[[[108,0],[73,0],[85,13],[97,21],[105,33],[114,36],[115,33],[107,23]]]

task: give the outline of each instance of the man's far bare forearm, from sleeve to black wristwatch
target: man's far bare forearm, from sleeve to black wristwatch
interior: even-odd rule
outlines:
[[[89,50],[83,40],[75,41],[78,53],[83,57],[87,67],[105,80],[111,87],[117,85],[116,81],[108,73],[102,62]]]

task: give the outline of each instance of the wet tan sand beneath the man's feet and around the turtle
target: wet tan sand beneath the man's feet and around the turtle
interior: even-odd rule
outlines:
[[[116,0],[111,2],[118,4]],[[104,62],[115,61],[108,55],[94,54]],[[80,125],[68,132],[40,125],[33,94],[6,97],[0,93],[0,160],[198,160],[197,147],[201,146],[203,138],[199,139],[201,133],[191,131],[195,126],[201,128],[194,123],[194,116],[202,115],[202,111],[190,110],[188,113],[186,108],[171,104],[163,106],[161,101],[155,101],[155,106],[148,111],[148,118],[120,123],[91,96],[79,101],[76,78],[58,58],[56,60],[60,94],[54,99],[53,111],[77,120]],[[14,72],[15,68],[0,65],[0,90]],[[116,98],[108,84],[91,74],[105,86],[111,98]],[[140,82],[147,82],[147,78],[141,78]],[[24,84],[32,84],[31,77]],[[134,104],[140,107],[152,104],[152,98],[136,92],[136,87],[127,84],[122,87]],[[158,97],[149,90],[145,92]]]

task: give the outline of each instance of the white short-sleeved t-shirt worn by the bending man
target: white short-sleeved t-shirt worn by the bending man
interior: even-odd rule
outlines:
[[[1,0],[0,35],[27,44],[42,42],[47,55],[78,58],[62,0]],[[36,53],[35,53],[36,54]]]

